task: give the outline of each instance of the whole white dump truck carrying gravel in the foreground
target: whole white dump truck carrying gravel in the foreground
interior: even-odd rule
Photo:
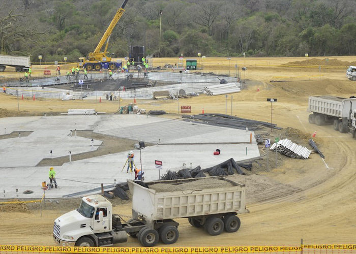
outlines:
[[[238,231],[241,222],[236,215],[249,212],[245,185],[224,177],[127,181],[132,194],[131,219],[126,222],[112,214],[111,203],[101,195],[86,196],[79,209],[55,219],[54,241],[63,246],[104,247],[126,242],[130,235],[152,247],[159,240],[165,244],[178,240],[179,223],[173,218],[188,218],[192,226],[219,235],[224,229]],[[158,190],[159,186],[169,191]]]

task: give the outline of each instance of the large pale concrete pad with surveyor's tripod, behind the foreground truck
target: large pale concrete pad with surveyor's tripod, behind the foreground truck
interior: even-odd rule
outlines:
[[[155,180],[159,171],[155,160],[163,162],[163,170],[180,170],[201,166],[207,168],[234,158],[235,161],[259,156],[255,141],[249,143],[251,132],[203,124],[167,120],[145,115],[90,115],[1,118],[0,135],[12,131],[33,131],[28,137],[0,140],[0,192],[2,198],[40,198],[42,181],[49,181],[48,167],[34,167],[38,160],[48,158],[52,149],[55,156],[68,155],[68,151],[84,152],[91,148],[90,139],[68,136],[70,130],[94,130],[118,137],[128,137],[145,142],[157,141],[154,146],[141,150],[145,180]],[[157,129],[159,128],[159,129]],[[183,130],[183,131],[182,131]],[[252,133],[253,135],[253,133]],[[32,136],[32,137],[31,137]],[[159,142],[161,139],[161,142]],[[101,141],[95,141],[97,148]],[[4,148],[7,147],[7,148]],[[213,155],[216,149],[220,155]],[[8,150],[7,150],[8,149]],[[134,148],[132,148],[134,150]],[[133,179],[134,173],[123,169],[127,152],[87,158],[55,167],[60,188],[46,190],[46,197],[58,198],[72,193]],[[135,165],[141,168],[140,152],[134,150]],[[53,155],[52,155],[53,156]],[[22,194],[24,190],[33,194]],[[86,194],[84,194],[86,195]]]

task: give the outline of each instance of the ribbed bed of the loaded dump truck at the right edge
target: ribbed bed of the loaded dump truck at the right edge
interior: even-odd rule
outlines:
[[[350,106],[356,108],[356,98],[346,99],[335,96],[310,96],[308,111],[339,118],[348,117]]]

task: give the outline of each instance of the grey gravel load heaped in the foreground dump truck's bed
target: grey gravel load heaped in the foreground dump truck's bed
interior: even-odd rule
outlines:
[[[186,182],[182,184],[172,185],[170,183],[156,183],[150,185],[151,189],[156,190],[156,192],[171,192],[172,188],[174,191],[177,190],[188,190],[188,189],[207,189],[207,188],[226,188],[233,186],[232,183],[219,180],[216,178],[204,178],[193,182]]]

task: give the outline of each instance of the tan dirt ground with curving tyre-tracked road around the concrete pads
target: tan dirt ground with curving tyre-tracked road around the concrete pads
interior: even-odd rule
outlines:
[[[318,58],[322,60],[325,57]],[[275,168],[275,157],[270,153],[271,171],[268,171],[266,156],[263,156],[260,165],[253,164],[254,174],[230,176],[247,186],[247,208],[250,213],[240,215],[241,229],[236,233],[223,233],[213,237],[202,229],[190,226],[187,219],[177,219],[180,223],[180,238],[174,246],[299,245],[301,238],[304,239],[305,244],[354,242],[356,142],[351,135],[334,131],[332,125],[310,124],[307,105],[310,95],[332,94],[345,98],[355,95],[356,82],[346,79],[346,67],[342,66],[322,68],[320,77],[311,80],[294,79],[297,76],[319,75],[319,69],[309,66],[310,62],[301,67],[289,67],[293,62],[305,59],[302,57],[231,59],[231,65],[237,62],[239,66],[247,66],[246,79],[251,82],[248,83],[246,90],[232,94],[232,112],[231,97],[228,98],[227,114],[271,121],[271,103],[266,102],[266,98],[277,98],[278,101],[273,104],[273,122],[284,129],[266,130],[265,132],[268,132],[266,137],[274,140],[275,137],[282,136],[308,146],[307,140],[317,131],[315,141],[325,155],[324,160],[316,153],[312,153],[307,160],[279,155],[278,165]],[[356,58],[329,57],[329,59],[352,62]],[[157,60],[158,63],[175,61],[173,58]],[[334,62],[340,64],[339,61]],[[261,66],[261,63],[265,65]],[[206,58],[204,64],[206,70],[229,67],[226,58]],[[281,67],[283,64],[286,66]],[[276,77],[278,81],[285,82],[270,82],[276,80]],[[130,102],[124,101],[123,104]],[[177,103],[171,100],[137,101],[140,108],[165,110],[171,113],[165,116],[170,118],[180,117],[177,114]],[[203,108],[206,113],[225,113],[224,95],[215,97],[203,95],[181,99],[179,105],[192,106],[193,114],[201,113]],[[117,102],[20,100],[20,112],[18,112],[16,98],[0,94],[2,117],[58,114],[72,108],[95,108],[97,111],[114,113],[117,110]],[[263,155],[266,149],[262,149],[262,146],[260,148]],[[129,218],[130,202],[114,202],[114,212],[127,215]],[[58,199],[52,202],[46,200],[42,216],[38,204],[0,205],[0,244],[54,245],[53,220],[77,207],[78,203],[77,199]],[[139,245],[133,238],[129,238],[127,243],[120,244],[120,246]]]

